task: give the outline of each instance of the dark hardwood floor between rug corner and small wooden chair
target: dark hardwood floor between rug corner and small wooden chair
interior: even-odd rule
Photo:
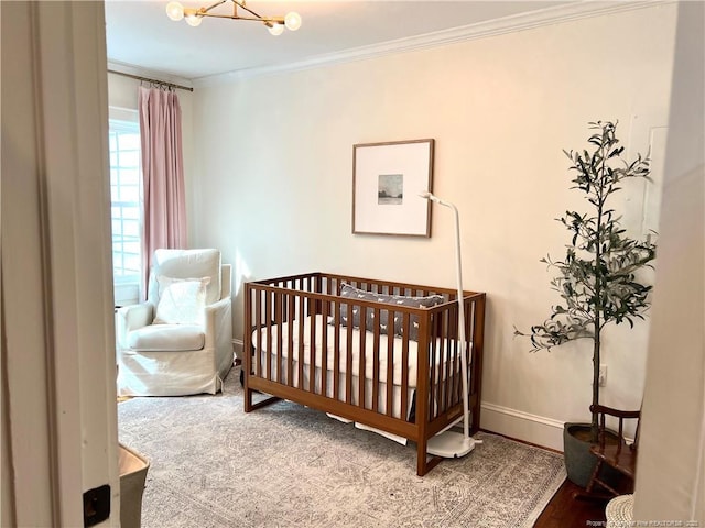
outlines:
[[[534,528],[605,526],[606,502],[573,498],[581,487],[566,480],[533,525]]]

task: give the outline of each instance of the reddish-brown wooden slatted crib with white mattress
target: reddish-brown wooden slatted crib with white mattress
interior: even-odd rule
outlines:
[[[247,283],[245,411],[289,399],[411,440],[424,475],[442,460],[426,454],[427,440],[463,418],[456,297],[454,289],[326,273]],[[465,292],[464,304],[474,433],[485,294]],[[268,397],[256,404],[257,392]]]

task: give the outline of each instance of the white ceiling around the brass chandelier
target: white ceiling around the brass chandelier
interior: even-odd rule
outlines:
[[[184,0],[184,7],[217,0]],[[528,13],[546,16],[573,1],[248,1],[261,15],[301,14],[299,31],[272,36],[259,22],[207,18],[200,26],[173,22],[167,0],[106,0],[108,62],[123,72],[165,74],[164,80],[238,75],[288,64],[322,61],[370,46],[447,34],[489,21],[510,23]],[[589,2],[604,4],[606,2]],[[230,14],[230,0],[215,12]],[[390,44],[391,43],[391,44]]]

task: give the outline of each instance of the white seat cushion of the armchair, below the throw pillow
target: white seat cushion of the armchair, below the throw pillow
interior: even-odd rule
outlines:
[[[199,324],[150,324],[128,333],[128,345],[140,352],[202,350],[206,343]]]

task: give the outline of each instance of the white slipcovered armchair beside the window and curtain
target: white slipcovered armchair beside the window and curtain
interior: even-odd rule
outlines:
[[[220,391],[234,359],[230,284],[218,250],[156,250],[147,302],[117,312],[118,395]]]

